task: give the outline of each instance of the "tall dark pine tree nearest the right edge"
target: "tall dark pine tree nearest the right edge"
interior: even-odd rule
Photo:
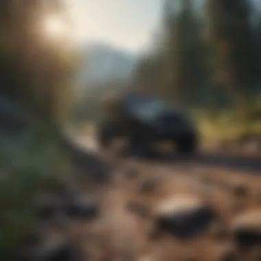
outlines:
[[[207,18],[214,80],[231,93],[240,108],[257,76],[251,5],[247,0],[208,0]]]

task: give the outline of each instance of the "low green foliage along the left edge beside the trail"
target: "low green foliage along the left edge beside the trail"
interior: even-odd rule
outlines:
[[[0,144],[0,259],[8,260],[34,225],[36,195],[63,183],[69,161],[58,141],[35,127]]]

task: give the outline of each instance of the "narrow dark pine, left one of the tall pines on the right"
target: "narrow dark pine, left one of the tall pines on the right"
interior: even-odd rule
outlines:
[[[192,9],[192,1],[183,1],[181,12],[177,14],[177,22],[174,26],[174,34],[170,40],[170,56],[172,60],[172,76],[174,78],[172,88],[181,104],[188,106],[192,102],[194,92],[199,84],[202,84],[198,76],[203,69],[200,56],[201,36],[198,19]]]

